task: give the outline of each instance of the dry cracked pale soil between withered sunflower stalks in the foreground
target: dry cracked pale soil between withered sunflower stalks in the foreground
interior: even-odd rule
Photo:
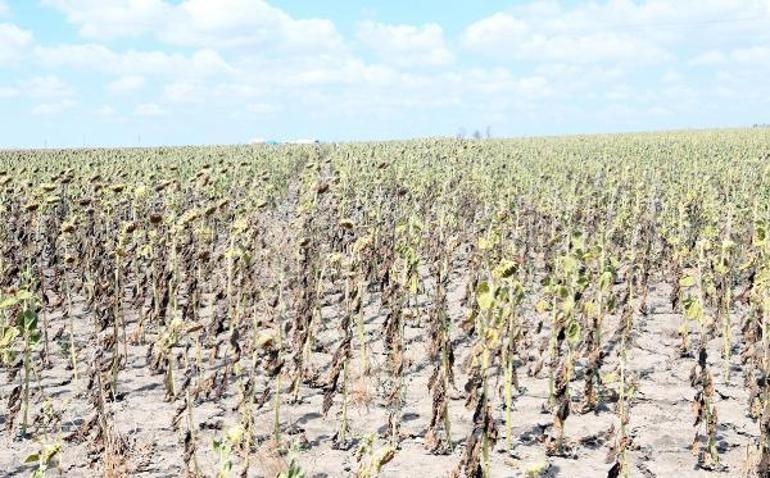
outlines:
[[[455,272],[450,288],[449,304],[455,323],[464,316],[462,307],[466,278],[461,268]],[[730,379],[725,381],[724,366],[720,358],[721,342],[715,339],[709,344],[709,365],[717,383],[717,409],[719,415],[719,450],[725,471],[709,472],[695,468],[696,459],[690,445],[695,429],[691,401],[694,390],[690,386],[690,370],[695,359],[680,358],[677,345],[677,328],[681,318],[672,313],[668,303],[670,287],[658,283],[652,287],[649,299],[649,313],[634,317],[633,344],[629,352],[629,367],[636,377],[637,391],[632,399],[630,410],[630,428],[633,436],[630,462],[633,476],[643,477],[702,477],[702,476],[741,476],[747,460],[748,445],[758,435],[758,425],[747,417],[747,396],[743,386],[743,376],[739,368],[739,350],[733,353]],[[370,433],[382,433],[386,430],[387,410],[384,407],[385,384],[380,377],[385,356],[382,351],[383,314],[379,310],[377,294],[369,297],[367,306],[367,337],[369,340],[372,373],[368,377],[358,376],[359,362],[353,361],[352,401],[350,412],[351,435],[360,440]],[[89,360],[88,344],[85,342],[91,327],[90,321],[83,316],[82,301],[75,304],[76,336],[79,338],[78,352],[81,363]],[[535,314],[531,304],[525,308],[530,317]],[[65,327],[60,311],[49,311],[51,335]],[[129,320],[128,333],[136,327],[135,313],[127,311]],[[337,330],[334,306],[324,310],[328,320],[322,324],[319,334],[319,351],[314,354],[314,365],[323,373],[329,366],[331,353],[339,332]],[[608,358],[602,369],[603,373],[614,370],[617,366],[616,354],[610,349],[617,346],[614,335],[616,318],[610,317],[605,324]],[[738,316],[733,323],[739,323]],[[734,327],[734,343],[740,344],[740,330]],[[411,320],[407,327],[407,357],[409,367],[407,377],[407,399],[403,414],[402,432],[404,440],[394,459],[385,465],[380,476],[386,477],[444,477],[448,476],[460,460],[465,437],[471,427],[471,413],[464,408],[465,384],[464,361],[469,344],[463,342],[461,333],[455,329],[456,348],[456,390],[450,393],[450,413],[454,453],[435,456],[425,450],[423,437],[428,426],[431,410],[431,397],[427,389],[427,380],[431,373],[426,358],[426,330],[416,321]],[[695,341],[695,334],[692,334]],[[542,330],[533,343],[540,344],[547,340],[548,329]],[[150,340],[152,337],[149,337]],[[354,356],[358,357],[358,344],[354,340]],[[171,419],[176,405],[164,401],[163,376],[153,375],[147,366],[147,344],[129,346],[129,359],[125,370],[119,374],[119,388],[124,398],[110,404],[118,431],[127,439],[129,445],[128,464],[125,470],[129,476],[171,477],[184,475],[183,447],[181,434],[171,428]],[[36,417],[44,403],[43,397],[50,398],[53,409],[62,413],[63,429],[66,434],[77,428],[90,414],[91,406],[87,398],[81,395],[88,377],[84,376],[86,366],[80,370],[81,377],[76,385],[72,381],[72,372],[67,369],[67,355],[55,343],[51,345],[51,366],[42,371],[39,383],[33,389],[34,406],[30,416]],[[545,464],[542,476],[596,477],[606,476],[610,465],[605,457],[615,437],[608,434],[612,427],[617,428],[618,418],[614,403],[608,403],[598,413],[581,415],[577,412],[582,395],[582,364],[578,364],[576,377],[571,386],[575,411],[566,422],[566,434],[575,442],[577,459],[546,457],[541,439],[548,433],[552,417],[543,413],[542,407],[548,398],[548,367],[536,377],[527,374],[529,366],[539,360],[538,347],[532,347],[528,363],[518,367],[522,386],[515,398],[513,414],[512,449],[505,450],[505,437],[501,437],[492,455],[492,476],[525,476],[528,469],[537,464]],[[283,379],[287,384],[289,380]],[[7,397],[13,384],[7,382],[5,374],[0,378],[0,397]],[[494,384],[495,389],[500,384]],[[40,393],[42,391],[44,393]],[[198,435],[198,462],[207,476],[214,476],[218,470],[218,458],[212,450],[211,442],[221,436],[223,430],[238,421],[235,410],[236,397],[232,390],[219,401],[204,401],[197,404],[194,412]],[[497,394],[495,394],[497,395]],[[332,447],[332,435],[338,427],[340,411],[339,398],[336,399],[328,416],[320,414],[323,392],[320,389],[304,387],[301,390],[301,403],[283,403],[281,406],[281,428],[283,440],[291,449],[283,461],[295,459],[308,477],[336,477],[354,475],[358,464],[355,459],[356,445],[348,450],[336,450]],[[496,398],[497,400],[497,398]],[[5,407],[2,407],[5,408]],[[495,408],[502,420],[504,411],[501,404]],[[272,404],[268,403],[255,412],[258,429],[262,432],[262,449],[252,457],[246,476],[272,476],[276,457],[267,445],[273,427]],[[6,416],[0,415],[0,427],[4,428]],[[504,425],[500,423],[501,431]],[[33,429],[34,431],[34,429]],[[378,443],[385,443],[380,439]],[[28,476],[33,469],[23,464],[24,458],[36,452],[38,444],[32,440],[20,440],[6,430],[0,433],[0,474],[7,477]],[[280,463],[280,460],[278,461]],[[92,463],[88,455],[88,444],[65,444],[60,457],[63,476],[90,477],[100,474],[98,464]],[[235,460],[234,476],[240,473],[243,462]],[[55,470],[49,471],[56,476]]]

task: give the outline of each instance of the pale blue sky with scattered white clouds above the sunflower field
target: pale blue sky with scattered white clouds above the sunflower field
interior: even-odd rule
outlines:
[[[0,0],[0,148],[770,123],[770,0]]]

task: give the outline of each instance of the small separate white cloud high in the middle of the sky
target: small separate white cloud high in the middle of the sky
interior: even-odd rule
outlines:
[[[356,37],[382,60],[398,66],[440,66],[453,60],[444,31],[435,23],[412,26],[366,21],[358,25]]]

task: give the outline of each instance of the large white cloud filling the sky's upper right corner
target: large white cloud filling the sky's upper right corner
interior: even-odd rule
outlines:
[[[768,22],[767,0],[543,0],[472,23],[462,44],[501,61],[655,64],[681,47],[767,38]]]

